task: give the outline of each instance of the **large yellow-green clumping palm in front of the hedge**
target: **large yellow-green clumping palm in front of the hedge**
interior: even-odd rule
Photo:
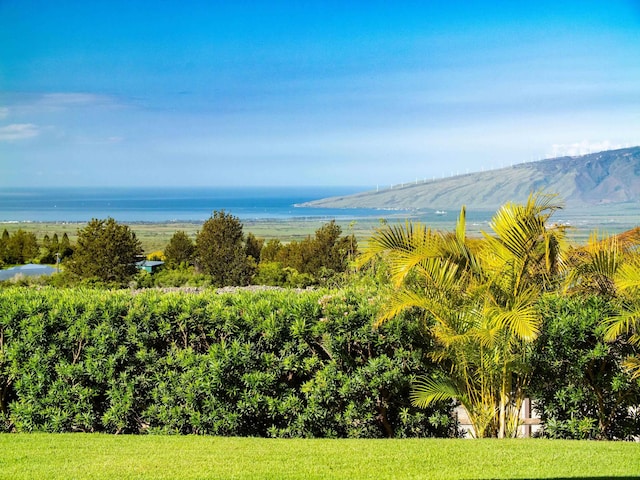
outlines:
[[[564,268],[564,230],[547,227],[558,208],[543,194],[506,204],[492,219],[493,233],[475,240],[466,237],[464,207],[454,232],[406,223],[374,234],[362,261],[385,255],[396,286],[379,322],[408,308],[424,311],[439,346],[433,357],[446,367],[442,377],[416,382],[415,405],[457,399],[476,436],[516,434],[541,324],[535,303]]]

